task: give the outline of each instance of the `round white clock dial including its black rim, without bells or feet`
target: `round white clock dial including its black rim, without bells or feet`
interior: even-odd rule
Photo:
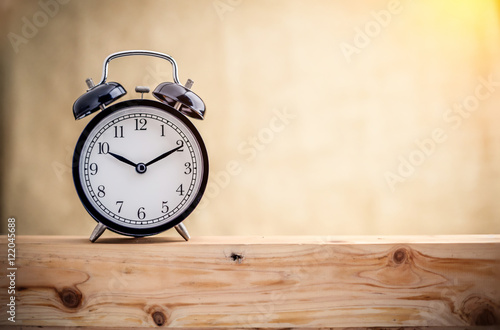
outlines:
[[[132,236],[180,223],[208,178],[198,131],[177,110],[151,100],[121,102],[96,116],[77,143],[73,164],[87,211]]]

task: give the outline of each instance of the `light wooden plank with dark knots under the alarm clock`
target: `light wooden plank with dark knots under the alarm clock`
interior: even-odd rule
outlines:
[[[13,323],[5,236],[0,243],[2,326]],[[158,236],[94,244],[20,236],[15,267],[15,325],[500,325],[500,235]]]

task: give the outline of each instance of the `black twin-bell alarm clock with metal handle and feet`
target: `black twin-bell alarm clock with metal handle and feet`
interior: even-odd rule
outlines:
[[[108,64],[124,56],[153,56],[172,65],[173,82],[163,82],[144,98],[115,103],[127,92],[107,82]],[[187,241],[182,221],[200,202],[208,180],[208,154],[188,119],[203,119],[205,104],[179,82],[177,63],[163,53],[131,50],[109,55],[101,81],[86,80],[88,90],[73,104],[76,120],[100,111],[85,127],[73,155],[73,181],[80,200],[97,222],[95,242],[109,229],[142,237],[174,227]]]

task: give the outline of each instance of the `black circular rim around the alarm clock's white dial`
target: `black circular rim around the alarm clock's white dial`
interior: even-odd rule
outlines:
[[[104,214],[99,212],[99,210],[95,208],[90,202],[90,200],[87,198],[83,190],[84,188],[82,180],[80,178],[81,152],[85,142],[89,138],[90,132],[92,132],[92,130],[97,126],[97,124],[105,120],[106,117],[108,117],[109,115],[115,113],[116,111],[126,109],[132,106],[145,106],[145,107],[157,108],[179,119],[193,133],[194,138],[197,140],[198,145],[200,146],[200,153],[203,158],[203,175],[201,178],[200,188],[196,192],[196,196],[189,204],[189,206],[182,213],[175,216],[172,220],[166,223],[159,224],[158,226],[152,226],[149,228],[132,228],[126,225],[117,224],[116,222],[108,219]],[[167,104],[149,99],[134,99],[134,100],[119,102],[113,104],[112,106],[98,113],[97,116],[92,118],[92,120],[87,124],[87,126],[85,126],[83,132],[80,134],[80,137],[78,138],[73,153],[73,183],[75,185],[78,197],[80,198],[80,201],[83,204],[85,210],[87,210],[87,212],[96,222],[102,223],[107,227],[107,229],[125,236],[142,237],[142,236],[156,235],[180,224],[194,211],[196,206],[201,201],[201,198],[203,197],[208,182],[208,172],[209,168],[208,168],[207,149],[205,147],[205,143],[201,137],[201,134],[198,132],[193,123],[185,115],[177,111],[175,108]]]

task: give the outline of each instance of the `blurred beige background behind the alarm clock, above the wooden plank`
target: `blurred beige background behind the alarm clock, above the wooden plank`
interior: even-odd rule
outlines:
[[[0,0],[0,220],[85,235],[73,186],[104,58],[173,56],[207,105],[200,235],[500,233],[498,1]],[[172,81],[127,57],[109,81]],[[105,235],[114,236],[113,233]],[[163,235],[176,235],[169,231]]]

